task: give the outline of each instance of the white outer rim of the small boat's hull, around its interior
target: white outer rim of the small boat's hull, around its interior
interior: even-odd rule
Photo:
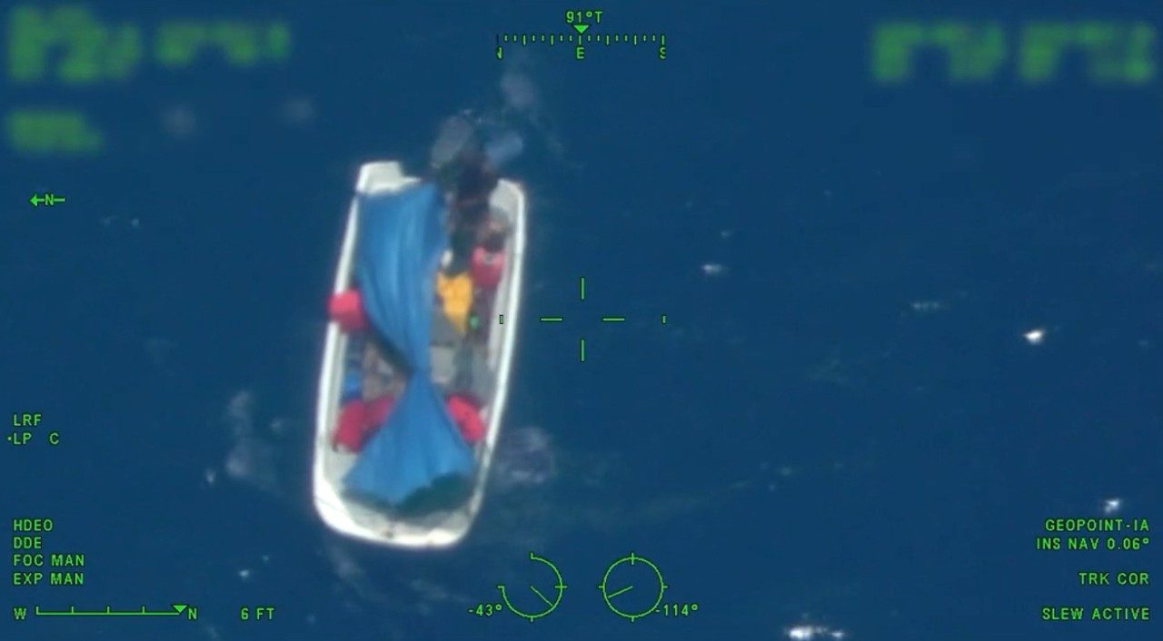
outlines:
[[[335,293],[351,288],[352,261],[359,233],[358,196],[394,192],[419,181],[405,175],[395,161],[368,163],[359,168],[356,197],[348,213],[347,231],[335,276]],[[492,398],[481,408],[485,437],[475,445],[475,477],[471,494],[459,505],[423,514],[400,516],[351,499],[343,491],[343,477],[355,464],[356,454],[333,447],[333,431],[340,412],[342,383],[348,350],[348,334],[337,323],[327,326],[327,344],[319,379],[319,405],[315,417],[314,463],[312,469],[315,510],[329,527],[365,541],[404,548],[438,548],[461,541],[480,511],[485,482],[492,463],[497,437],[505,415],[513,347],[516,339],[518,311],[521,302],[521,273],[525,253],[525,193],[509,180],[501,180],[490,197],[492,216],[506,219],[512,232],[505,246],[505,267],[493,304],[492,325],[487,339],[486,362],[494,375]],[[435,274],[433,275],[435,278]],[[499,322],[504,315],[504,322]]]

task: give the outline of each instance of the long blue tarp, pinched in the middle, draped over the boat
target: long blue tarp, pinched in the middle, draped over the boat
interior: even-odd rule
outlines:
[[[359,197],[355,271],[372,326],[412,376],[385,424],[343,480],[358,495],[398,505],[440,477],[469,475],[469,446],[431,382],[434,281],[448,244],[443,197],[430,183]]]

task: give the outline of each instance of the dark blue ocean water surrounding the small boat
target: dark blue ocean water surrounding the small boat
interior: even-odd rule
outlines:
[[[0,166],[0,405],[63,439],[5,447],[0,517],[52,518],[49,550],[86,553],[83,588],[6,589],[0,638],[1160,638],[1163,576],[1077,572],[1163,572],[1163,539],[1035,538],[1108,499],[1163,527],[1163,71],[869,72],[883,20],[1157,33],[1158,7],[602,8],[611,30],[664,31],[668,58],[498,62],[498,33],[564,29],[548,3],[108,3],[143,28],[279,19],[294,44],[251,70],[207,55],[98,86],[6,80],[6,109],[76,107],[107,142],[9,145]],[[506,105],[530,221],[493,490],[455,549],[343,540],[309,504],[308,441],[356,170],[419,168],[441,118]],[[45,190],[67,202],[28,206]],[[535,322],[550,314],[566,323]],[[557,610],[470,615],[498,583],[552,584],[530,550],[569,585]],[[630,552],[697,613],[607,610],[597,584]],[[7,615],[170,603],[198,620]],[[240,620],[259,605],[273,621]],[[1156,620],[1041,620],[1059,605]]]

